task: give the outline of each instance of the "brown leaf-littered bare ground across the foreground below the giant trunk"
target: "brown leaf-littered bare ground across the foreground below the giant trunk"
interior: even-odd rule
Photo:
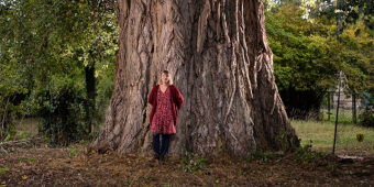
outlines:
[[[6,153],[7,152],[7,153]],[[374,158],[326,156],[295,164],[243,158],[173,158],[98,154],[77,145],[0,150],[0,186],[374,186]]]

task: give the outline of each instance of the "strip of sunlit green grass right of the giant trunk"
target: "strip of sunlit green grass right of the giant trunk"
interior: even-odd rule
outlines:
[[[312,141],[314,150],[332,152],[334,123],[317,121],[292,121],[299,139],[301,146]],[[356,134],[365,135],[363,142],[356,140]],[[354,124],[338,123],[337,153],[346,153],[355,155],[374,154],[374,129],[364,128]]]

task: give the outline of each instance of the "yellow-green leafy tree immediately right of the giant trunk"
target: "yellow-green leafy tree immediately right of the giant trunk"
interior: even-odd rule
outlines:
[[[338,72],[336,53],[339,48],[331,47],[337,42],[323,35],[333,29],[309,22],[302,15],[304,11],[295,4],[266,14],[274,75],[288,113],[294,109],[319,109]]]

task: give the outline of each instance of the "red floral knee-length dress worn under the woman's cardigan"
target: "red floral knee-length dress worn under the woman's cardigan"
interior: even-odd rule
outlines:
[[[175,134],[177,132],[174,125],[170,95],[169,87],[166,88],[165,92],[162,92],[158,88],[156,112],[151,123],[152,132],[161,134]]]

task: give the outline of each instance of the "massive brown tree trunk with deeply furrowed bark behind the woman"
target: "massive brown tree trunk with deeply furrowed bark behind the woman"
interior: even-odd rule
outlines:
[[[118,0],[114,91],[92,145],[151,152],[147,97],[168,69],[185,98],[170,154],[248,156],[282,148],[279,132],[298,146],[264,20],[261,0]]]

